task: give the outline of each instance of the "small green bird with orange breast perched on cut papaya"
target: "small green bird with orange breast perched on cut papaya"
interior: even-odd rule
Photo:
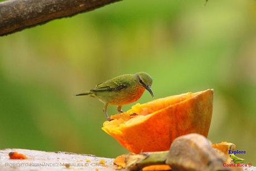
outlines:
[[[146,72],[125,74],[102,82],[96,85],[94,89],[77,94],[76,96],[89,95],[91,97],[98,97],[98,99],[104,103],[103,112],[108,120],[110,120],[107,113],[109,105],[118,106],[117,110],[123,113],[122,105],[137,101],[142,96],[145,89],[154,97],[151,89],[152,81],[151,76]]]

